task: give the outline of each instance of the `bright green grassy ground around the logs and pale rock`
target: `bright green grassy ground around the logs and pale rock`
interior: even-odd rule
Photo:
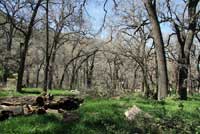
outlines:
[[[10,97],[38,96],[41,89],[0,90],[0,101]],[[66,90],[50,90],[55,96],[71,95]],[[128,121],[124,112],[136,105],[153,118],[138,116]],[[180,101],[176,96],[165,101],[146,99],[140,94],[113,98],[86,97],[76,110],[80,119],[66,123],[60,114],[18,116],[0,122],[1,134],[200,134],[200,95]]]

